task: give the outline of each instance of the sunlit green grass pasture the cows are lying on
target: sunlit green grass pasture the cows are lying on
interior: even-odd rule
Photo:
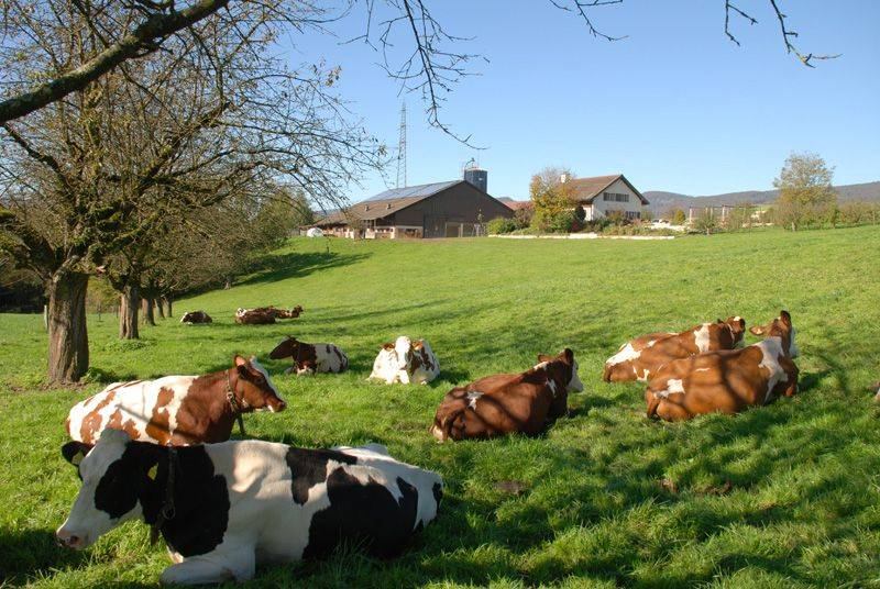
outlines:
[[[261,567],[249,587],[880,586],[880,229],[697,236],[669,242],[295,240],[272,269],[177,301],[175,320],[116,338],[89,318],[91,384],[45,390],[38,315],[0,315],[0,586],[154,586],[169,563],[129,523],[94,547],[55,545],[79,489],[62,457],[68,409],[105,384],[204,374],[256,354],[287,401],[245,416],[249,436],[305,447],[378,442],[438,471],[438,519],[397,559],[346,547]],[[239,307],[306,310],[237,325]],[[645,418],[644,384],[602,381],[629,338],[741,315],[792,313],[801,392],[736,416]],[[367,382],[384,342],[426,337],[428,386]],[[286,335],[331,342],[349,370],[284,376]],[[746,343],[758,341],[748,334]],[[583,393],[544,435],[437,444],[455,385],[521,371],[570,346]],[[238,437],[238,430],[233,438]]]

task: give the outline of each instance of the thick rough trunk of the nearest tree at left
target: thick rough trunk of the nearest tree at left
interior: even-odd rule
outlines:
[[[89,367],[86,331],[86,274],[56,275],[46,287],[48,308],[48,380],[76,382]]]

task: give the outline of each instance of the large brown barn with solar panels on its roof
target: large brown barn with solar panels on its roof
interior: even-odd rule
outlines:
[[[482,225],[514,212],[468,180],[450,180],[386,190],[316,226],[340,237],[471,237]]]

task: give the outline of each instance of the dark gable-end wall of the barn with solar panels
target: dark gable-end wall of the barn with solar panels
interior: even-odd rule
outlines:
[[[444,237],[447,223],[487,223],[496,216],[514,216],[514,211],[481,192],[468,182],[461,182],[394,213],[397,225],[424,227],[426,237]]]

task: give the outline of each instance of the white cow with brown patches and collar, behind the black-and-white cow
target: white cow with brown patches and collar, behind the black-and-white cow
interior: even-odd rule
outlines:
[[[205,376],[114,382],[70,409],[67,433],[87,444],[107,429],[155,444],[224,442],[241,413],[286,407],[255,358],[233,362],[232,368]]]

